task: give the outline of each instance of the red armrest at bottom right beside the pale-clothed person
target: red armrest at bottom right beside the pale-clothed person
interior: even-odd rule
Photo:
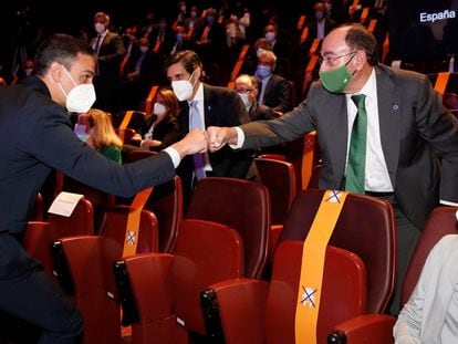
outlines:
[[[364,314],[344,321],[327,336],[327,343],[394,343],[396,319],[385,314]]]

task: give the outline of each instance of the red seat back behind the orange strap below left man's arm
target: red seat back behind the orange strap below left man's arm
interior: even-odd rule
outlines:
[[[116,242],[121,250],[125,242],[129,212],[127,206],[115,206],[106,211],[105,228],[102,236]],[[137,240],[137,253],[158,251],[158,222],[156,216],[149,210],[142,209]]]

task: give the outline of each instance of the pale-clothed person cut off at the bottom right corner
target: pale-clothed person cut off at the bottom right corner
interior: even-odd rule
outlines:
[[[429,252],[417,285],[400,310],[393,331],[396,344],[457,342],[457,260],[458,234],[445,236]]]

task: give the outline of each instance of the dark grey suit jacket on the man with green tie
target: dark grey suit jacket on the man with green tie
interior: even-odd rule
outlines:
[[[421,229],[440,199],[458,202],[458,123],[428,77],[375,67],[382,148],[396,201]],[[281,118],[242,126],[243,148],[275,145],[318,131],[322,153],[320,188],[340,189],[347,146],[346,101],[315,82],[308,100]],[[441,169],[437,155],[441,156]],[[441,178],[440,178],[441,176]]]

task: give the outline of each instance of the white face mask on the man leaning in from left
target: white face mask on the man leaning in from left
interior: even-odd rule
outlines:
[[[77,85],[73,80],[72,75],[66,71],[66,69],[62,65],[66,75],[69,75],[70,80],[75,85],[72,91],[67,94],[65,90],[62,87],[61,84],[58,84],[61,87],[62,92],[66,96],[66,110],[72,113],[85,113],[87,112],[91,106],[95,102],[95,88],[93,84],[81,84]]]

